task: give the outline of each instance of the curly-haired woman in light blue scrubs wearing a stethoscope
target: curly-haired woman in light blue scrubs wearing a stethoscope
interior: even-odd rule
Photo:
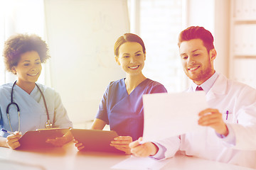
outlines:
[[[36,84],[41,63],[49,57],[46,42],[37,35],[18,34],[6,40],[6,70],[14,73],[17,81],[0,86],[0,128],[13,133],[0,132],[1,147],[16,149],[20,146],[21,135],[28,130],[73,126],[59,94],[43,84]],[[9,106],[11,100],[16,104]],[[47,142],[61,146],[72,139],[72,135],[66,134]]]

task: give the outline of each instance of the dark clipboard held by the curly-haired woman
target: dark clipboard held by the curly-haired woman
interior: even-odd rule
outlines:
[[[43,129],[35,131],[27,131],[18,140],[21,146],[17,149],[36,149],[36,148],[47,148],[54,147],[50,143],[46,143],[46,140],[53,139],[55,137],[62,137],[69,128],[53,128]]]

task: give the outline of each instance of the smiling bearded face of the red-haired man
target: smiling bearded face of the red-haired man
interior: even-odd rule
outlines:
[[[194,83],[201,85],[214,74],[216,51],[208,52],[201,39],[181,42],[179,51],[183,70]]]

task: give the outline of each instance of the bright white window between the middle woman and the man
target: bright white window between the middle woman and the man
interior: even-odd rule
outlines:
[[[141,36],[146,46],[144,75],[164,84],[169,92],[183,91],[187,82],[177,45],[178,34],[183,28],[183,3],[181,0],[140,0],[139,2],[136,4],[139,6],[139,12],[137,11],[139,18],[131,17],[131,20],[139,20],[139,22],[131,21],[131,27],[133,23],[137,24],[138,29],[134,30],[134,33]],[[129,6],[130,11],[134,11],[132,1]]]

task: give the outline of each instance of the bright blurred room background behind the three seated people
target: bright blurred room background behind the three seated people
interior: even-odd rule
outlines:
[[[177,41],[188,26],[213,33],[217,72],[256,87],[254,0],[0,0],[0,52],[15,33],[46,40],[51,58],[38,83],[58,91],[75,128],[90,128],[107,84],[125,76],[113,51],[124,33],[144,40],[146,77],[169,93],[184,91],[190,82]],[[6,84],[16,77],[2,60],[0,84]]]

